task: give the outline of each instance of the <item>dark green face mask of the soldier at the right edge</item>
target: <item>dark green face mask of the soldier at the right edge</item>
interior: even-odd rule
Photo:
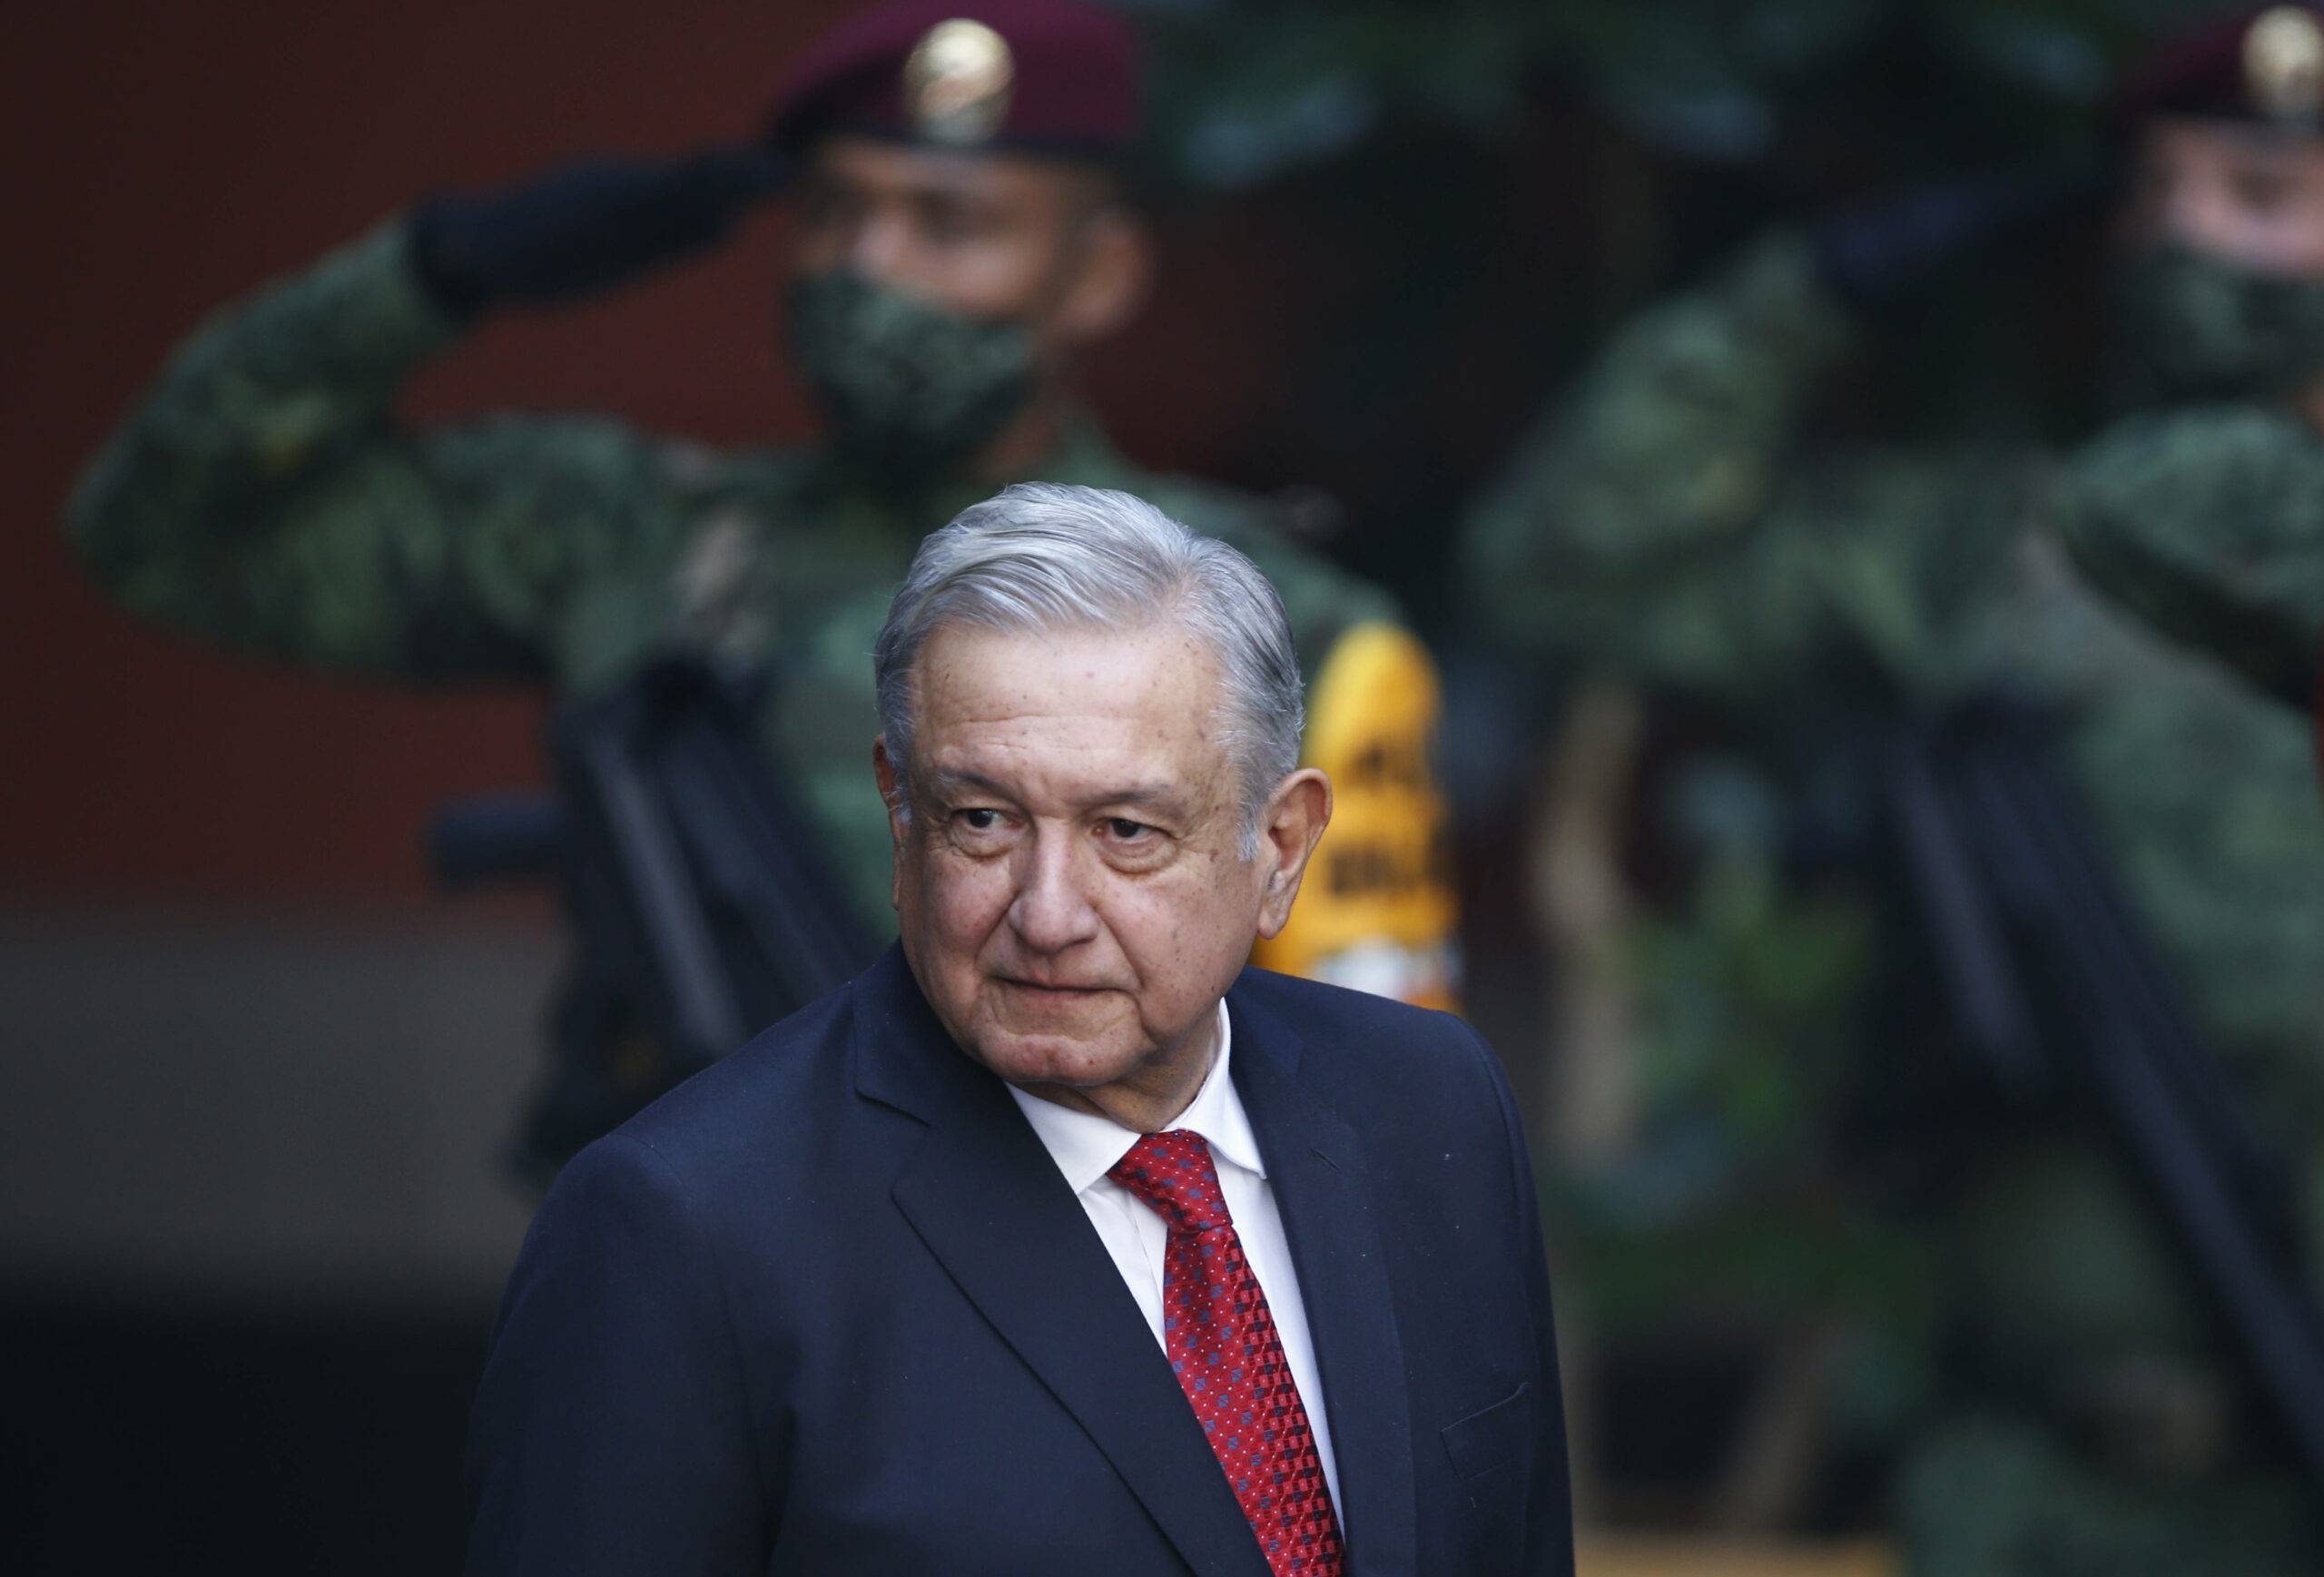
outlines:
[[[2273,397],[2324,379],[2324,281],[2164,244],[2115,262],[2113,286],[2133,404]]]

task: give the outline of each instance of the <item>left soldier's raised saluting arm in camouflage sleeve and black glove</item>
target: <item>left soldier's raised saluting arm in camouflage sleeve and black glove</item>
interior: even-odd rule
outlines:
[[[528,674],[593,564],[667,530],[669,465],[602,420],[411,430],[402,383],[483,311],[725,235],[762,153],[569,165],[439,197],[225,307],[70,502],[128,609],[239,650],[402,676]]]

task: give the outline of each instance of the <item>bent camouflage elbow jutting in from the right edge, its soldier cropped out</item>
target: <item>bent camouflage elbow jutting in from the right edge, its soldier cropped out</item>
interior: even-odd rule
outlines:
[[[2171,639],[2308,711],[2324,669],[2324,441],[2296,416],[2203,406],[2117,423],[2066,467],[2073,562]]]

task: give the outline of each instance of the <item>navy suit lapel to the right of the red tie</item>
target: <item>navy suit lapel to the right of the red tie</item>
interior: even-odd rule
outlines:
[[[1364,1150],[1299,1078],[1299,1034],[1243,992],[1227,994],[1227,1010],[1234,1085],[1267,1157],[1322,1373],[1348,1572],[1408,1572],[1413,1428]]]

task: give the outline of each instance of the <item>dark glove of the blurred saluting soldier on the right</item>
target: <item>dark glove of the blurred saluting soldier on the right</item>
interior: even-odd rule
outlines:
[[[1850,307],[1880,311],[1922,290],[1959,258],[2094,211],[2113,186],[2113,167],[2099,163],[1922,186],[1822,221],[1808,244],[1824,283]]]

